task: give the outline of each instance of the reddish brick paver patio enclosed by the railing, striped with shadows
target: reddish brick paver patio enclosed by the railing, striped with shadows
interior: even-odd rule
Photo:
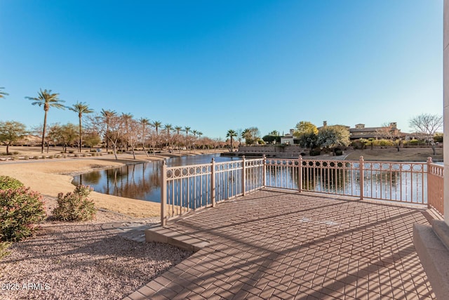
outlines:
[[[434,299],[413,246],[429,218],[261,190],[169,222],[210,246],[125,299]]]

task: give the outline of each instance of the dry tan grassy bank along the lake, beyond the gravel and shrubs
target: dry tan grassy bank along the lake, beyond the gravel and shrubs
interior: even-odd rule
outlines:
[[[40,152],[40,149],[39,149]],[[201,150],[188,155],[201,155],[204,152],[217,151]],[[140,164],[160,161],[170,157],[184,156],[173,153],[162,153],[147,157],[145,153],[137,153],[136,159],[132,154],[102,155],[95,157],[70,157],[61,159],[31,159],[0,162],[0,175],[17,178],[26,187],[41,193],[45,198],[48,213],[57,206],[58,193],[73,192],[73,177],[99,169],[121,167],[126,164]],[[207,153],[206,153],[207,154]],[[89,197],[95,202],[97,209],[106,209],[130,218],[158,217],[161,214],[161,205],[156,202],[135,200],[126,197],[106,195],[93,191]]]

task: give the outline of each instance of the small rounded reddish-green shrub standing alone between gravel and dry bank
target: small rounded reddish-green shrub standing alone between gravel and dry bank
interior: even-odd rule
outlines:
[[[95,206],[88,199],[92,188],[78,185],[75,190],[67,194],[58,194],[58,207],[53,209],[55,219],[60,221],[88,221],[95,217]]]

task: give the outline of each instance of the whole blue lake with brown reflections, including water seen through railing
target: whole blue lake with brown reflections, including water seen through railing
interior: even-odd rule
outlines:
[[[219,155],[200,155],[191,157],[175,157],[168,159],[169,167],[210,163],[212,157],[216,162],[239,160],[236,157],[220,157]],[[297,164],[286,162],[270,162],[267,165],[267,186],[297,190],[302,178],[302,189],[311,192],[331,193],[337,195],[359,196],[361,193],[361,174],[358,162],[306,162],[300,176]],[[427,174],[425,165],[420,163],[366,163],[363,171],[363,196],[375,199],[398,200],[402,202],[426,203]],[[217,169],[216,199],[231,197],[242,193],[241,171],[236,166],[232,170],[222,166]],[[262,169],[246,172],[246,188],[262,185]],[[116,169],[93,171],[74,178],[73,183],[91,185],[99,193],[129,197],[133,199],[159,202],[161,162],[134,164]],[[193,193],[209,195],[207,188],[210,179],[185,179],[170,193],[177,201],[180,195],[195,198]],[[192,183],[191,183],[192,181]],[[196,186],[198,184],[198,186]],[[252,186],[254,185],[254,186]],[[184,189],[184,190],[183,190]],[[170,189],[169,189],[170,190]],[[196,192],[194,192],[196,191]],[[195,197],[194,197],[195,196]],[[174,198],[174,199],[175,199]],[[205,198],[204,198],[205,199]],[[198,200],[200,201],[200,200]],[[201,200],[202,201],[202,200]],[[196,205],[196,204],[195,204]],[[201,205],[200,205],[201,206]]]

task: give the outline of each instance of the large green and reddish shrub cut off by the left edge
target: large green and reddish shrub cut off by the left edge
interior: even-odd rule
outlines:
[[[37,229],[45,218],[41,194],[20,187],[0,190],[0,240],[19,241]]]

